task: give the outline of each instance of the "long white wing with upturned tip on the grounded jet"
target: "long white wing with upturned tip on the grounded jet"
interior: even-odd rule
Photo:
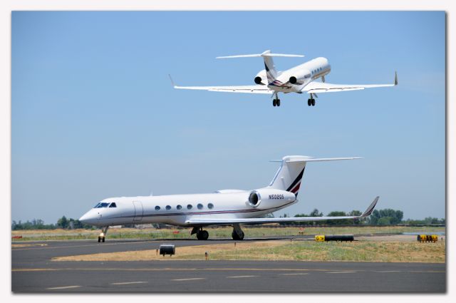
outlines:
[[[322,221],[322,220],[341,220],[341,219],[362,219],[368,217],[373,212],[379,197],[375,197],[371,205],[361,216],[343,216],[343,217],[271,217],[271,218],[245,218],[245,219],[190,219],[185,223],[189,225],[229,225],[229,224],[265,224],[279,222],[304,222],[304,221]]]

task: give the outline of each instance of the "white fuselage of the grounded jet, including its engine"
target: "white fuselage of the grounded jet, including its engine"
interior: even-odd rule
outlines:
[[[297,202],[292,192],[261,188],[257,205],[249,202],[252,191],[220,190],[208,194],[112,197],[86,212],[81,221],[95,226],[165,223],[187,226],[189,219],[251,218]],[[113,205],[113,203],[115,203]]]

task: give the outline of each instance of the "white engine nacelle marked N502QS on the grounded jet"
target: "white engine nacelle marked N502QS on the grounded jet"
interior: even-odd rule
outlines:
[[[248,203],[252,207],[258,207],[261,204],[261,208],[269,208],[288,204],[295,200],[296,195],[293,192],[273,188],[260,188],[249,193]]]

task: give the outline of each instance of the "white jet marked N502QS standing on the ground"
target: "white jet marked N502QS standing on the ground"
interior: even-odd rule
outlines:
[[[83,223],[104,227],[98,242],[105,242],[108,227],[144,223],[165,223],[193,227],[192,235],[207,240],[209,225],[230,225],[233,240],[244,239],[241,224],[275,222],[303,222],[319,220],[361,219],[371,215],[378,197],[361,216],[343,217],[279,217],[264,218],[298,202],[298,192],[306,163],[315,161],[352,160],[358,158],[311,158],[303,155],[287,155],[271,183],[256,190],[217,190],[207,194],[161,195],[145,197],[110,197],[98,202],[79,220]]]

